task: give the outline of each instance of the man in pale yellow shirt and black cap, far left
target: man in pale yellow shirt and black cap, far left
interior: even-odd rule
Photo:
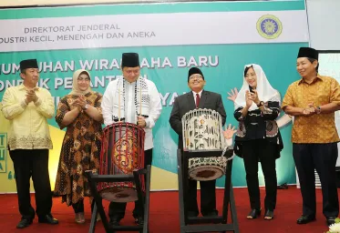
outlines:
[[[26,228],[35,218],[29,194],[30,177],[36,191],[36,215],[39,223],[57,224],[51,215],[52,192],[48,175],[48,149],[52,141],[46,118],[53,117],[51,94],[37,87],[39,70],[36,59],[20,62],[20,86],[5,90],[2,111],[9,120],[8,148],[15,168],[15,183],[22,216],[16,228]]]

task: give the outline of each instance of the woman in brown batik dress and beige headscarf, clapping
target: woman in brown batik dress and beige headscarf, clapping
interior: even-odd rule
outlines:
[[[77,223],[85,222],[84,197],[91,197],[85,171],[98,169],[102,137],[102,95],[91,90],[90,81],[87,70],[74,73],[72,91],[60,100],[56,116],[59,127],[67,131],[54,192],[67,206],[72,205]]]

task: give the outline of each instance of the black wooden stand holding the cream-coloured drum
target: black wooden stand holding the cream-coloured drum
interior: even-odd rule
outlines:
[[[183,153],[183,155],[182,155]],[[228,148],[225,153],[226,157],[232,157],[232,147]],[[223,198],[222,216],[216,217],[188,217],[188,188],[189,188],[189,158],[191,157],[221,157],[222,150],[212,151],[181,151],[177,150],[178,157],[178,177],[179,177],[179,195],[180,195],[180,233],[186,232],[239,232],[239,225],[236,217],[235,200],[232,191],[232,159],[228,161],[225,172],[225,186]],[[227,224],[228,208],[231,207],[232,223]],[[214,223],[211,225],[202,225],[204,223]],[[200,224],[200,225],[193,225]]]

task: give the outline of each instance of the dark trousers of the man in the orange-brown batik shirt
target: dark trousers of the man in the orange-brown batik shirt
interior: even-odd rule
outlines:
[[[323,192],[323,213],[325,217],[337,217],[339,201],[336,189],[335,165],[336,143],[293,144],[293,156],[303,196],[303,214],[315,216],[315,175],[320,177]]]

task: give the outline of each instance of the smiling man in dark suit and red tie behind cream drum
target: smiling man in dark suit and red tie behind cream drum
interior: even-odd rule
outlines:
[[[204,76],[201,70],[192,67],[189,70],[188,86],[191,92],[178,96],[172,107],[170,115],[170,126],[179,135],[179,148],[183,149],[182,124],[181,117],[187,112],[195,108],[212,109],[220,113],[222,117],[222,126],[225,123],[225,110],[222,102],[222,96],[217,93],[203,90],[205,85]],[[215,185],[216,180],[201,181],[201,215],[202,216],[217,216]],[[197,181],[189,180],[188,199],[188,216],[197,217],[199,208],[197,205]]]

